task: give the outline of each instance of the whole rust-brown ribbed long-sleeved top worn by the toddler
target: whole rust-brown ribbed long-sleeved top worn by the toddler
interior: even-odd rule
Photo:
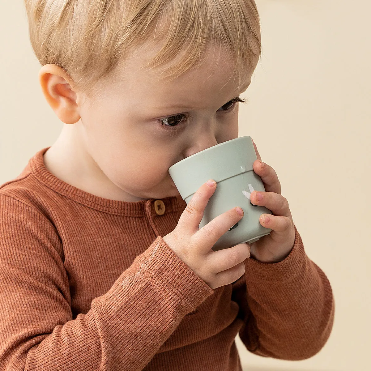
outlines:
[[[303,359],[325,344],[331,286],[295,228],[290,255],[245,261],[211,289],[167,246],[178,197],[114,201],[55,177],[37,152],[0,187],[0,370],[242,370],[258,355]]]

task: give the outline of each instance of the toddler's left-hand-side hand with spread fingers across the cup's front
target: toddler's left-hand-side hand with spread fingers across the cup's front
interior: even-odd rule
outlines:
[[[250,247],[246,243],[229,249],[211,250],[217,240],[242,219],[243,215],[237,213],[236,207],[220,214],[202,228],[198,227],[215,190],[215,182],[211,187],[207,183],[201,185],[173,232],[163,237],[171,250],[212,289],[239,279],[245,272],[243,262],[250,256]]]

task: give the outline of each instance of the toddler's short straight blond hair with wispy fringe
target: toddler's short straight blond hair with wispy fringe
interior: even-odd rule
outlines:
[[[40,64],[55,64],[75,87],[96,85],[147,40],[164,41],[148,68],[174,79],[201,63],[210,43],[229,50],[240,79],[260,55],[254,0],[24,0],[30,41]],[[184,56],[183,54],[184,53]],[[182,55],[182,58],[175,57]]]

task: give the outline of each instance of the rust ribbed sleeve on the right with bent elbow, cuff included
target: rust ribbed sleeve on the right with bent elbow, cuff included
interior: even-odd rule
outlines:
[[[295,243],[282,262],[245,261],[232,300],[244,325],[239,336],[254,354],[287,360],[312,357],[334,321],[334,298],[324,272],[308,258],[295,227]]]

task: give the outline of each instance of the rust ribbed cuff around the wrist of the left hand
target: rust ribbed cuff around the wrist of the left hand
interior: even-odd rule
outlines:
[[[193,311],[214,293],[214,290],[170,249],[161,236],[155,239],[139,259],[156,278],[166,281],[174,292],[184,298],[189,307],[187,310]]]

